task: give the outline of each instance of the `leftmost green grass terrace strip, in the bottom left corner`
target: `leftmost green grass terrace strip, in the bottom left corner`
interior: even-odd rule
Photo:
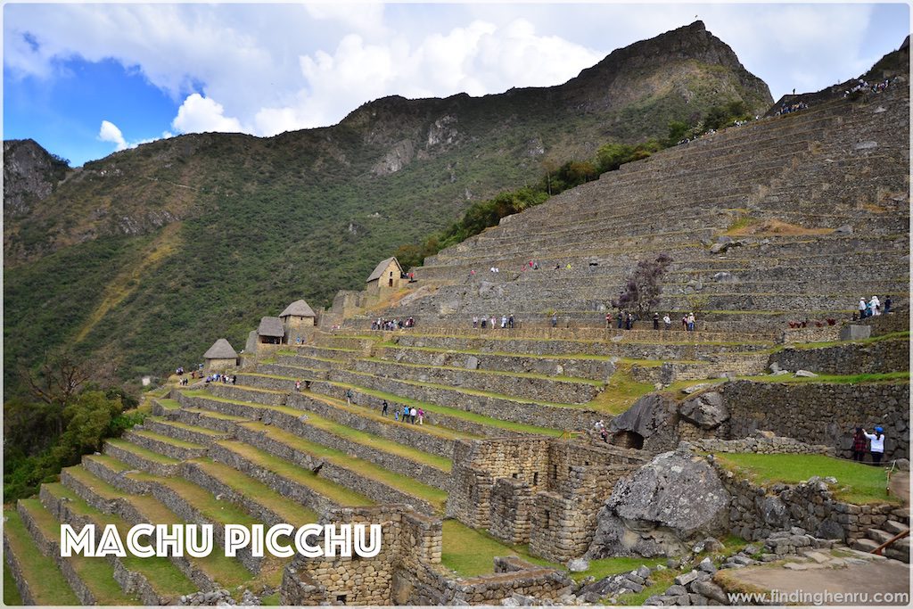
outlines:
[[[31,584],[30,587],[37,604],[80,604],[57,564],[54,563],[54,559],[43,556],[37,550],[31,534],[26,530],[26,525],[16,509],[5,508],[3,515],[4,537],[9,541],[9,548],[22,567],[24,579]],[[8,574],[6,562],[4,562],[4,602],[6,604],[9,604],[6,584]],[[8,580],[12,582],[13,578],[9,577]],[[21,604],[21,597],[18,600]]]

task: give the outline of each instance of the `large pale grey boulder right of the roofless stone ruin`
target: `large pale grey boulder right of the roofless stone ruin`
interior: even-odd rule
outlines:
[[[673,556],[728,530],[729,492],[688,451],[663,453],[622,478],[600,511],[586,558]]]

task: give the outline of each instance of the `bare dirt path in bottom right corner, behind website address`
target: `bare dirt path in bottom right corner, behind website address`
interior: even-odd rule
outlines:
[[[817,566],[817,565],[814,565]],[[824,604],[837,605],[906,605],[905,599],[892,597],[878,601],[876,593],[909,593],[909,565],[897,561],[866,562],[850,564],[843,569],[809,569],[797,572],[782,567],[746,567],[732,574],[741,583],[750,583],[766,590],[781,593],[797,592],[824,595],[827,593],[864,593],[837,602],[834,597],[821,596]],[[816,604],[813,596],[795,598],[781,604]]]

